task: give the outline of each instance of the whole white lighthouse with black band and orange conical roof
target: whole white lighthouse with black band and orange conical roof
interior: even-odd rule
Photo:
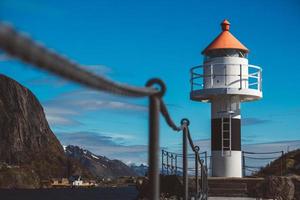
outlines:
[[[241,103],[262,98],[262,69],[248,63],[249,50],[221,23],[221,33],[193,67],[190,98],[211,104],[211,167],[215,177],[242,177]]]

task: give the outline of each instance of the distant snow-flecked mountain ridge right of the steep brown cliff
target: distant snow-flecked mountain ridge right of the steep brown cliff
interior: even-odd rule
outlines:
[[[65,148],[69,158],[78,160],[93,176],[98,178],[116,178],[120,176],[137,176],[137,173],[120,160],[110,160],[98,156],[78,146],[69,145]]]

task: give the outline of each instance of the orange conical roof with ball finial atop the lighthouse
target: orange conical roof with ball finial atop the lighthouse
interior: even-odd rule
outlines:
[[[230,32],[230,23],[226,19],[221,23],[222,32],[218,35],[212,43],[208,45],[202,54],[208,54],[212,50],[216,49],[239,49],[246,53],[249,52],[247,47],[245,47],[238,39],[236,39]]]

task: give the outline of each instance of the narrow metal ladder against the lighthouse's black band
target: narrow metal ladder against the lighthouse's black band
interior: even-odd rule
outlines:
[[[232,112],[227,112],[221,118],[222,156],[231,156],[231,118]]]

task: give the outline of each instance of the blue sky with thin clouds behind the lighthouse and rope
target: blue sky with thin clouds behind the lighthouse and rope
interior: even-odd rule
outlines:
[[[200,52],[227,18],[251,51],[249,63],[263,68],[263,99],[242,104],[245,145],[299,140],[299,10],[296,0],[0,2],[1,20],[88,70],[138,86],[164,80],[171,115],[178,123],[189,118],[198,141],[210,138],[210,105],[189,100],[189,69],[202,63]],[[63,144],[145,161],[147,99],[95,92],[3,54],[0,60],[1,73],[38,97]],[[181,135],[163,121],[161,130],[161,146],[177,149]]]

